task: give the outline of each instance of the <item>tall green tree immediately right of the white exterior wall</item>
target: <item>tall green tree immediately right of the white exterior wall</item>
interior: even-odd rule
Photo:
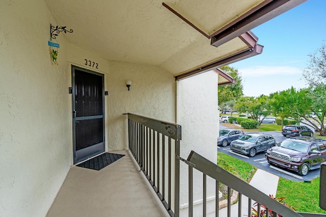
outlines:
[[[220,69],[235,80],[234,84],[219,86],[218,90],[219,106],[222,112],[225,113],[226,108],[230,108],[232,112],[234,106],[232,102],[243,95],[242,78],[235,68],[224,66]]]

